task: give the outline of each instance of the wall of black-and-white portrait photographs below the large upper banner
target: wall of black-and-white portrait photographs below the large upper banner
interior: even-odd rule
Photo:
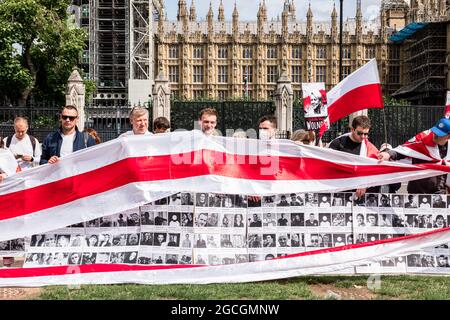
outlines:
[[[133,210],[0,242],[24,267],[81,264],[233,264],[385,240],[448,225],[443,195],[181,192]],[[446,273],[448,244],[359,266],[356,272]]]

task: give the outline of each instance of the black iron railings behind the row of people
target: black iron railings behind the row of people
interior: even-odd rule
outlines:
[[[255,129],[258,119],[266,114],[274,114],[273,102],[223,101],[223,102],[186,102],[172,101],[172,130],[192,130],[201,109],[216,108],[219,113],[218,129],[226,134],[227,129]],[[85,109],[85,127],[94,128],[102,141],[116,138],[123,132],[131,130],[128,114],[131,106],[100,107],[89,106]],[[26,107],[0,105],[0,136],[14,132],[13,121],[17,116],[29,120],[29,133],[42,141],[45,136],[59,126],[60,105],[56,103],[34,103]],[[150,119],[152,110],[149,108]],[[369,109],[372,121],[370,140],[380,146],[389,142],[392,146],[404,143],[416,133],[432,127],[444,114],[444,107],[436,106],[386,106],[384,109]],[[293,129],[304,128],[303,110],[294,106]],[[335,137],[348,132],[348,118],[332,124],[323,137],[329,142]],[[289,132],[282,132],[279,138],[289,138]]]

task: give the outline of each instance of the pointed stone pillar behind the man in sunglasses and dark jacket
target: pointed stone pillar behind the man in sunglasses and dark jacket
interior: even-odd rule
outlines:
[[[84,130],[86,115],[84,111],[86,98],[86,88],[78,69],[74,68],[67,80],[66,105],[75,106],[78,109],[78,130]]]

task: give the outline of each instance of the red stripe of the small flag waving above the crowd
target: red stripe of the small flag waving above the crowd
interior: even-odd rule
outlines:
[[[380,84],[369,84],[355,88],[339,97],[328,106],[330,123],[334,123],[349,114],[370,108],[383,108]]]

